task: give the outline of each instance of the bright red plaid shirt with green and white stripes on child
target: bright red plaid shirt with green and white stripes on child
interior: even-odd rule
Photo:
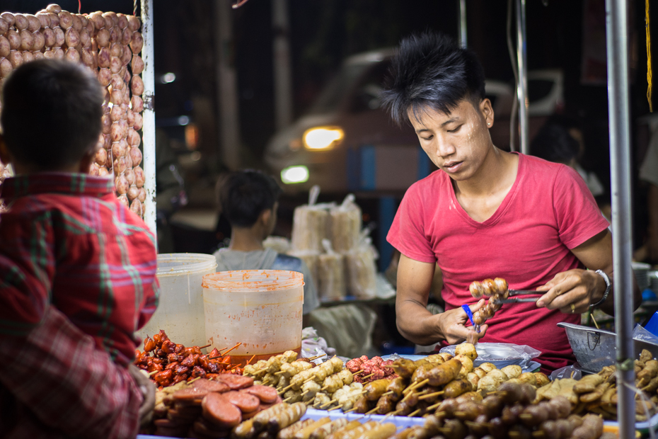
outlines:
[[[121,365],[157,306],[156,246],[110,178],[35,173],[7,178],[0,217],[0,336],[23,336],[49,304]]]

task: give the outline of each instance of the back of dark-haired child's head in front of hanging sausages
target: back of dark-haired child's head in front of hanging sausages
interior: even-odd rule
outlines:
[[[2,91],[0,123],[16,161],[56,170],[98,143],[103,89],[81,64],[40,59],[18,67]]]

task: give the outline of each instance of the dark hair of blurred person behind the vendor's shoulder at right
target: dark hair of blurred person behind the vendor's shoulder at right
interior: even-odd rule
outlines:
[[[572,137],[570,129],[579,125],[575,120],[564,117],[552,117],[539,129],[530,143],[530,154],[555,163],[568,164],[577,159],[580,143]]]

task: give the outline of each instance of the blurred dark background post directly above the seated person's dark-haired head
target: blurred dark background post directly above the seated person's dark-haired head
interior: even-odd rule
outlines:
[[[217,102],[221,158],[235,171],[240,167],[240,120],[238,113],[238,79],[234,64],[231,0],[215,0],[215,47],[217,62]]]

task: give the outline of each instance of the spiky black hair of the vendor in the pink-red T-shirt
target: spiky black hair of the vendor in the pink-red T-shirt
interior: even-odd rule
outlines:
[[[420,118],[424,109],[450,114],[463,99],[485,98],[485,74],[475,54],[446,35],[422,33],[400,42],[391,62],[383,105],[398,125],[408,110]]]

